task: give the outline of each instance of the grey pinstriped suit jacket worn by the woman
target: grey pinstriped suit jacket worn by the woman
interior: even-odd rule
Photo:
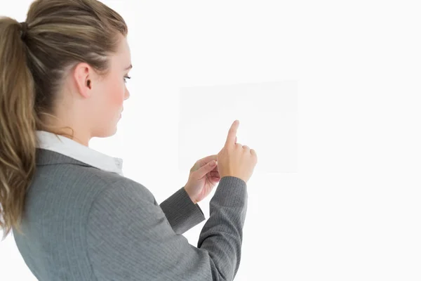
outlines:
[[[182,233],[205,216],[184,187],[158,204],[140,183],[37,148],[13,237],[42,281],[234,280],[247,196],[245,181],[221,178],[194,247]]]

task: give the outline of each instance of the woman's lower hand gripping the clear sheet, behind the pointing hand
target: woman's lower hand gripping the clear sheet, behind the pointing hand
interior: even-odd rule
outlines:
[[[220,181],[216,156],[210,155],[199,159],[190,169],[185,190],[194,204],[208,196],[213,187]],[[215,163],[215,165],[212,166],[212,163]]]

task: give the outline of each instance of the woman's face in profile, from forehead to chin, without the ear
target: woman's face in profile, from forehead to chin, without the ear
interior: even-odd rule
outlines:
[[[123,101],[130,93],[126,88],[126,79],[131,69],[131,53],[127,39],[121,36],[119,52],[110,58],[111,70],[101,81],[95,81],[95,112],[90,112],[93,118],[92,136],[107,137],[116,133],[116,124],[121,119]]]

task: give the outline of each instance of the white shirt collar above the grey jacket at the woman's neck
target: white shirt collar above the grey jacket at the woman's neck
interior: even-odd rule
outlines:
[[[48,131],[36,131],[36,148],[52,150],[104,171],[123,176],[123,159],[105,155],[97,150]],[[60,138],[60,140],[58,139]]]

